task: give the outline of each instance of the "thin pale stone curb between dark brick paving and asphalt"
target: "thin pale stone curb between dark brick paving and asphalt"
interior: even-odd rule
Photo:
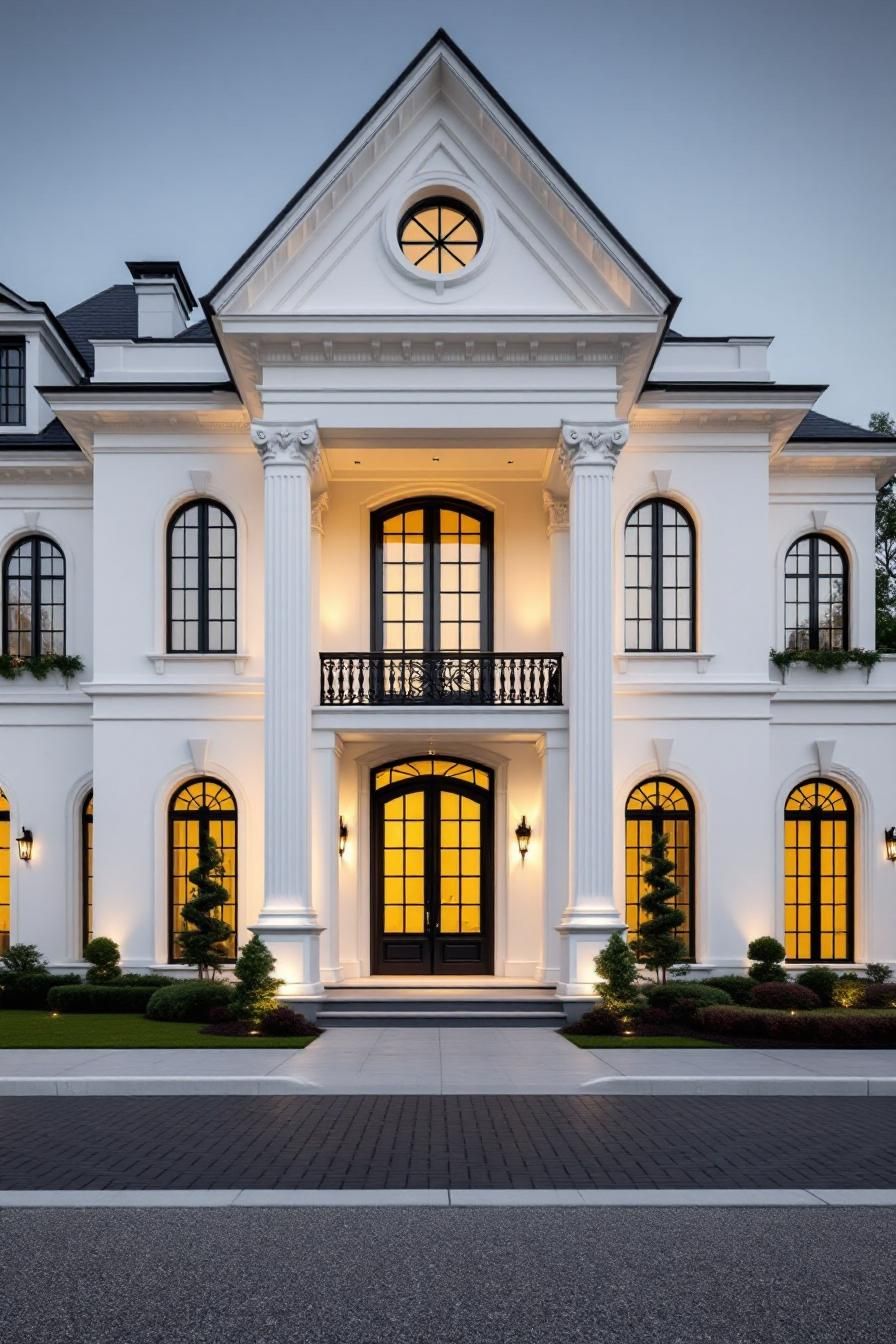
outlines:
[[[846,1208],[893,1189],[21,1189],[0,1208]]]

